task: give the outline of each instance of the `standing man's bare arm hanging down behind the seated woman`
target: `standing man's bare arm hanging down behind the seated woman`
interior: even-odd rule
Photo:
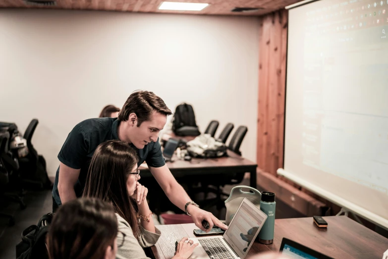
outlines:
[[[73,169],[60,162],[58,192],[62,204],[77,198],[74,191],[74,185],[77,183],[80,171],[81,169]]]

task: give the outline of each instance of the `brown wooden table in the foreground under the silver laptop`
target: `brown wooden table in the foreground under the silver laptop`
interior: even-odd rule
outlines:
[[[266,251],[278,252],[283,237],[301,243],[334,259],[381,259],[388,249],[388,239],[358,224],[346,216],[324,217],[327,229],[319,229],[313,218],[275,220],[275,239],[271,245],[254,243],[248,257]],[[194,224],[160,225],[158,243],[151,248],[156,259],[171,259],[175,241],[195,237]]]

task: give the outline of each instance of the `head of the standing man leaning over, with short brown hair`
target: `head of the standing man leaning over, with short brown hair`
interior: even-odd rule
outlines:
[[[142,149],[151,141],[158,140],[159,132],[165,127],[167,116],[171,115],[165,102],[149,91],[133,92],[118,114],[119,138]]]

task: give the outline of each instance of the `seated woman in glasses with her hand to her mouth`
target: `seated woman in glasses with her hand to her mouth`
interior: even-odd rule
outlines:
[[[104,142],[94,152],[86,179],[83,195],[111,203],[116,212],[117,242],[123,244],[117,251],[117,259],[147,258],[142,248],[155,245],[161,235],[147,203],[148,189],[137,182],[140,179],[138,161],[136,151],[128,143]],[[188,239],[181,240],[174,259],[189,258],[198,245],[185,241]]]

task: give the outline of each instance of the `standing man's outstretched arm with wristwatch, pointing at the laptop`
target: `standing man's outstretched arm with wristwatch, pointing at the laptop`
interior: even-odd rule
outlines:
[[[185,192],[183,187],[176,182],[175,178],[171,174],[167,165],[162,167],[149,167],[152,175],[155,177],[156,181],[162,187],[163,191],[167,195],[168,199],[184,211],[184,206],[187,202],[191,200],[189,195]],[[200,209],[194,205],[189,205],[187,211],[190,213],[195,225],[201,230],[209,232],[212,230],[213,225],[216,225],[224,230],[227,229],[227,226],[219,219],[217,219],[212,213]],[[209,229],[205,229],[202,226],[202,220],[209,222]]]

